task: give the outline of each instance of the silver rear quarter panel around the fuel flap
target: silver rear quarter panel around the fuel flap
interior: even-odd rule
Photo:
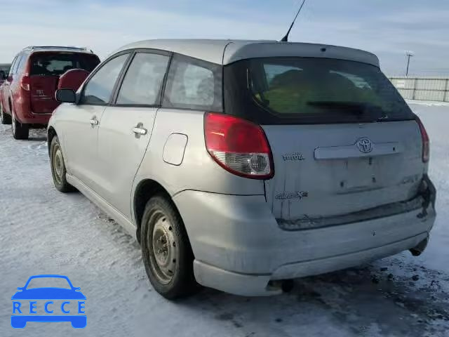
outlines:
[[[158,110],[152,138],[135,177],[133,191],[142,180],[152,179],[172,196],[182,190],[263,195],[263,180],[234,176],[210,157],[204,142],[203,124],[204,112],[201,111]],[[163,160],[164,146],[173,133],[187,136],[184,157],[179,165]]]

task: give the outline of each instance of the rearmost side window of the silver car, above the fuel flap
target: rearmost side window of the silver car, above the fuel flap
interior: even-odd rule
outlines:
[[[222,67],[175,55],[170,65],[164,107],[222,111]]]

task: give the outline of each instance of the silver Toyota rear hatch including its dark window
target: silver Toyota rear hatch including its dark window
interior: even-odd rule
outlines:
[[[262,125],[274,160],[265,194],[281,227],[395,212],[384,205],[396,213],[420,206],[415,197],[427,170],[420,126],[378,67],[326,58],[242,60],[225,67],[225,107]]]

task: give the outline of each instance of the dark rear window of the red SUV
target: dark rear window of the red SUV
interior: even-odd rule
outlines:
[[[30,75],[59,76],[71,69],[91,72],[99,63],[97,55],[88,53],[34,53],[30,58]]]

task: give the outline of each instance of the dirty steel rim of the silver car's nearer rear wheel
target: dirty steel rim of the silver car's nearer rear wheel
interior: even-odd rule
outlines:
[[[150,223],[154,223],[149,237],[150,265],[161,284],[168,284],[175,275],[176,242],[173,225],[162,211],[155,211]]]

